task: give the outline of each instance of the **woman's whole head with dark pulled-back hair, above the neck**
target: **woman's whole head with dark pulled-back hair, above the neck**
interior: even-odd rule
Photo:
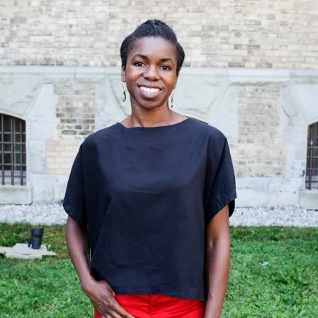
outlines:
[[[132,108],[166,108],[185,58],[174,31],[162,21],[146,21],[125,38],[120,57]]]

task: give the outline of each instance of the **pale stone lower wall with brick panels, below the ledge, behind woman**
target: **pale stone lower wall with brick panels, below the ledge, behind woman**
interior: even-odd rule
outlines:
[[[0,203],[62,200],[84,125],[99,130],[122,120],[130,106],[121,95],[119,68],[0,67],[0,113],[25,120],[27,133],[27,185],[1,186]],[[318,70],[186,68],[174,109],[227,136],[238,206],[318,208],[317,191],[305,191],[317,100]],[[94,123],[84,123],[85,114]]]

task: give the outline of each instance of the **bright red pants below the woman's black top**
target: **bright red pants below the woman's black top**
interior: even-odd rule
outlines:
[[[164,295],[115,295],[121,307],[135,318],[203,318],[204,302]],[[101,318],[96,310],[95,318]]]

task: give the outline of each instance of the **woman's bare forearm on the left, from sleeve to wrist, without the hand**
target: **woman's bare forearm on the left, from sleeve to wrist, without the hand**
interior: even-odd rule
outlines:
[[[79,280],[83,284],[92,278],[89,241],[86,231],[69,217],[67,219],[65,237],[69,256],[79,276]]]

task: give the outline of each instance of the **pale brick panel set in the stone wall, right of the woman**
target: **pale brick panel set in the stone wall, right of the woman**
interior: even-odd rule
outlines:
[[[239,142],[232,147],[237,176],[285,176],[285,145],[278,140],[280,87],[242,86],[238,106]]]

